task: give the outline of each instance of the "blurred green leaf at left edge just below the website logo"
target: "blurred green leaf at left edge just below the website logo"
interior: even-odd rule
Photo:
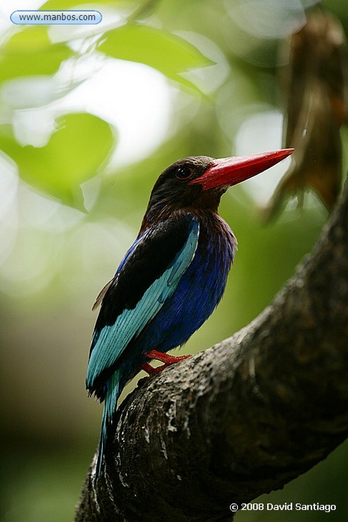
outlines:
[[[63,43],[51,43],[47,28],[28,27],[11,37],[0,52],[0,81],[19,76],[54,74],[74,52]]]

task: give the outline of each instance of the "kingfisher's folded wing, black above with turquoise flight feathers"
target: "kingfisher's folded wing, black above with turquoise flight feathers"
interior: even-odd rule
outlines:
[[[146,231],[129,249],[107,289],[95,325],[86,378],[100,390],[125,359],[127,347],[175,291],[194,258],[199,222],[170,218]]]

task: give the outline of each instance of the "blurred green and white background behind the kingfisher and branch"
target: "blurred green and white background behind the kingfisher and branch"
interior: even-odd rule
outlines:
[[[133,242],[153,183],[168,164],[281,147],[281,49],[314,4],[2,0],[1,520],[73,520],[102,413],[85,390],[95,296]],[[347,32],[346,0],[323,5]],[[9,21],[16,9],[76,6],[99,10],[103,21]],[[346,171],[344,127],[341,136]],[[246,325],[315,244],[327,211],[313,193],[300,209],[290,199],[268,226],[260,220],[286,165],[224,196],[221,215],[239,241],[235,266],[218,310],[182,353]],[[335,504],[329,514],[290,511],[281,519],[347,520],[347,476],[343,444],[259,502]],[[280,516],[243,512],[236,520]]]

